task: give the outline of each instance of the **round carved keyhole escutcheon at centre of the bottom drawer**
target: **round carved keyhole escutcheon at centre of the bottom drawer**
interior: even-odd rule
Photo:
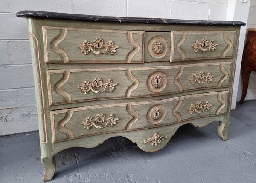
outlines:
[[[151,106],[147,112],[147,120],[151,124],[159,124],[166,117],[166,109],[163,105],[157,104]]]

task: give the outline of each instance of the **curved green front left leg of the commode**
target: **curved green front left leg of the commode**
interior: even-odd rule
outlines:
[[[52,177],[55,172],[55,158],[54,156],[51,157],[41,157],[41,161],[44,165],[44,181],[52,180]]]

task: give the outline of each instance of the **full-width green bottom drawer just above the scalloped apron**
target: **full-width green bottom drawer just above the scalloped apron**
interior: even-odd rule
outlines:
[[[51,112],[52,141],[165,126],[227,113],[229,91]]]

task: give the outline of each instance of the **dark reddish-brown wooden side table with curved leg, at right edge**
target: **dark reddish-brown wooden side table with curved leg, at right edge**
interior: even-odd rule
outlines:
[[[244,102],[247,93],[248,83],[251,71],[256,71],[256,28],[247,29],[247,41],[244,46],[244,53],[242,58],[242,78],[243,78],[243,93],[240,104]]]

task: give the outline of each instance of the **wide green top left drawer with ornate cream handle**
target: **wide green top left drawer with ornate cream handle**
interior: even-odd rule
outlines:
[[[143,63],[144,31],[43,26],[46,63]]]

